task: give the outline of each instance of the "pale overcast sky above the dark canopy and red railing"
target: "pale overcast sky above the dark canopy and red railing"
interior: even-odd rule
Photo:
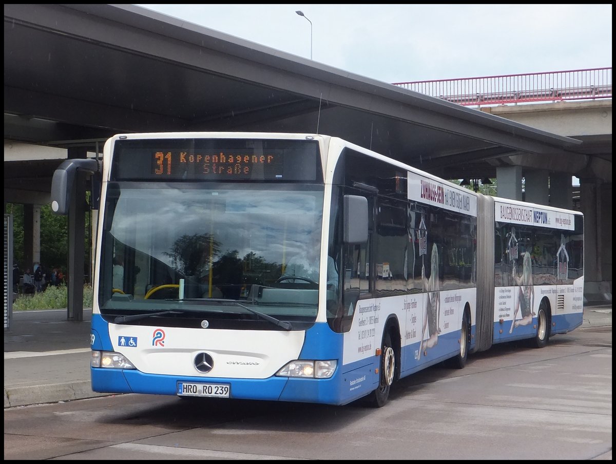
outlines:
[[[612,66],[611,4],[138,6],[388,83]]]

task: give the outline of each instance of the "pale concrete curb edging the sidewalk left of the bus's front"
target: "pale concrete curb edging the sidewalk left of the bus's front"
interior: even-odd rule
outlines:
[[[92,391],[89,380],[73,383],[52,383],[49,385],[22,386],[4,389],[4,407],[28,406],[32,404],[57,403],[74,399],[111,396],[115,393]]]

